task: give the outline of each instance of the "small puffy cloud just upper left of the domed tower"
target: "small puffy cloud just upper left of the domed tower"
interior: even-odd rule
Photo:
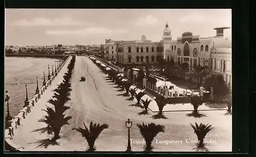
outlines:
[[[181,23],[200,23],[206,20],[207,18],[203,14],[196,12],[183,16],[179,19]]]

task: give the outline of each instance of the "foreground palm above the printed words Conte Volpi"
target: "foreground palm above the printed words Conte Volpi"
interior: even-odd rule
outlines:
[[[191,125],[191,127],[193,127],[195,133],[197,134],[197,138],[198,138],[198,144],[197,144],[197,147],[198,148],[203,148],[205,146],[205,143],[204,143],[204,138],[206,136],[206,134],[212,130],[213,128],[211,127],[211,125],[208,126],[208,124],[203,124],[203,123],[200,123],[200,125],[198,125],[196,122],[195,122],[195,126],[191,123],[189,123]]]

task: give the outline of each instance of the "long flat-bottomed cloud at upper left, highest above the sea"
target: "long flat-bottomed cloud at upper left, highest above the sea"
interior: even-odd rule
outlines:
[[[86,26],[90,24],[91,23],[86,23],[84,21],[75,21],[71,17],[62,17],[57,19],[36,17],[32,20],[17,20],[12,24],[12,26]]]

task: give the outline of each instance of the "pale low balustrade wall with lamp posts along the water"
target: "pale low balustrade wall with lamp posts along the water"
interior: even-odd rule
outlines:
[[[49,86],[51,86],[52,81],[55,79],[57,74],[62,69],[63,65],[66,64],[69,56],[62,56],[63,58],[62,64],[60,64],[59,69],[56,70],[55,74],[50,76],[48,80],[46,81],[45,85],[43,84],[38,89],[38,93],[35,94],[31,99],[28,100],[27,106],[24,105],[22,110],[19,111],[19,114],[17,116],[14,116],[11,120],[8,120],[6,118],[5,123],[5,150],[9,151],[22,151],[24,147],[19,146],[15,143],[13,143],[12,138],[15,134],[15,130],[22,125],[23,119],[26,119],[26,117],[33,112],[33,108],[37,105],[38,100],[41,98],[42,95],[44,95],[45,92],[47,92],[47,89]],[[26,101],[25,101],[26,103]]]

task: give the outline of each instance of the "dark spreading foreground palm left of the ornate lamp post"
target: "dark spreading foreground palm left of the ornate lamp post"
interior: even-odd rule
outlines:
[[[78,128],[73,128],[72,130],[76,130],[76,131],[80,132],[81,136],[83,138],[86,138],[86,141],[87,141],[88,147],[89,147],[87,149],[87,151],[95,151],[96,150],[96,148],[94,146],[95,141],[98,139],[101,131],[109,128],[109,125],[108,124],[100,125],[100,124],[96,124],[96,123],[93,124],[93,122],[90,123],[89,128],[86,126],[86,124],[83,123],[83,125],[84,125],[85,129],[78,127]]]

